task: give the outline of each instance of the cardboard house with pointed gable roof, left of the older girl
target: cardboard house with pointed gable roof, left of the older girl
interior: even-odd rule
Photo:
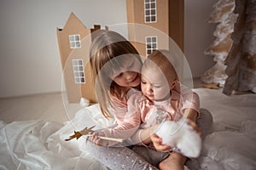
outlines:
[[[99,30],[86,28],[75,14],[70,14],[66,25],[57,28],[57,38],[61,56],[62,75],[65,81],[67,100],[79,103],[81,98],[96,102],[89,62],[91,33]]]

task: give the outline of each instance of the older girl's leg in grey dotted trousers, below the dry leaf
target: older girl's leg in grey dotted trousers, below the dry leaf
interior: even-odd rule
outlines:
[[[134,151],[127,147],[105,147],[92,144],[87,141],[85,150],[90,153],[90,156],[101,161],[103,165],[112,170],[120,169],[158,169],[145,161],[141,156],[138,156]]]

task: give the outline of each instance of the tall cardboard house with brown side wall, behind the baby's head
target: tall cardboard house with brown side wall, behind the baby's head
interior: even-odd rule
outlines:
[[[183,51],[183,0],[126,0],[126,8],[127,22],[138,24],[128,27],[129,39],[141,55],[169,49],[169,37]]]

